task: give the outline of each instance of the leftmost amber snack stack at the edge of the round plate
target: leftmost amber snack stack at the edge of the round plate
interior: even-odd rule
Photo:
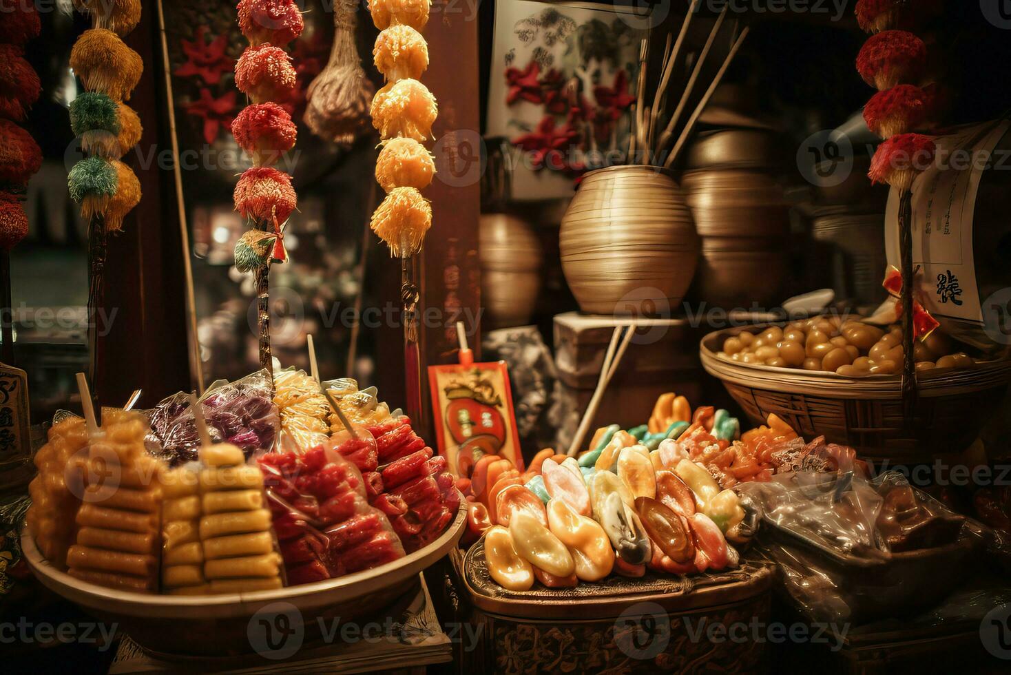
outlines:
[[[53,565],[66,569],[74,542],[74,516],[81,506],[88,431],[84,419],[67,417],[50,428],[35,454],[38,474],[28,486],[31,507],[26,521],[35,546]]]

